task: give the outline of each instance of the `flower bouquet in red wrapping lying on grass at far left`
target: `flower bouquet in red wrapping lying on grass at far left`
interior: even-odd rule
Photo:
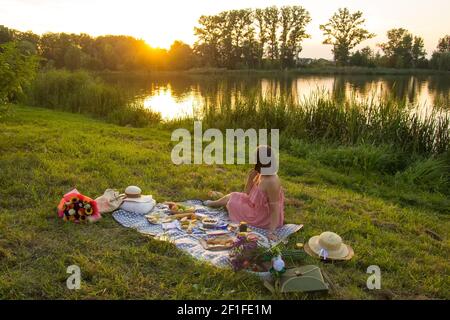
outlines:
[[[58,205],[58,216],[75,223],[94,222],[101,218],[95,200],[82,195],[77,189],[63,196]]]

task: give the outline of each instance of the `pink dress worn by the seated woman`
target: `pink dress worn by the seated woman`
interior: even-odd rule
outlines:
[[[284,192],[280,188],[280,215],[278,217],[277,228],[284,223]],[[230,220],[235,223],[247,222],[250,226],[269,229],[270,209],[269,199],[259,185],[254,184],[249,194],[244,192],[233,192],[227,204]]]

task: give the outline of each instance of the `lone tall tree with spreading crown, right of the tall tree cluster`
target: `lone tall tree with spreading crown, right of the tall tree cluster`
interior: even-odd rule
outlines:
[[[340,65],[348,64],[353,48],[375,36],[363,27],[362,15],[361,11],[351,13],[347,8],[340,8],[326,24],[320,25],[326,37],[323,43],[333,46],[334,60]]]

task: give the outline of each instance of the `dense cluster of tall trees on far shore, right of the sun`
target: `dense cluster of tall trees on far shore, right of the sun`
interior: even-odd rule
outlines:
[[[309,37],[309,13],[300,6],[224,11],[201,16],[195,52],[206,65],[227,68],[292,67]]]

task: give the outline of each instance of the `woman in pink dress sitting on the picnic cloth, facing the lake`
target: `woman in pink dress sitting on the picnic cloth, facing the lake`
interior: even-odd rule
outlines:
[[[248,174],[245,192],[232,192],[216,201],[207,200],[205,205],[226,207],[231,221],[245,221],[251,226],[267,229],[269,239],[275,240],[273,232],[284,222],[284,192],[272,149],[259,146],[256,153],[256,165]]]

